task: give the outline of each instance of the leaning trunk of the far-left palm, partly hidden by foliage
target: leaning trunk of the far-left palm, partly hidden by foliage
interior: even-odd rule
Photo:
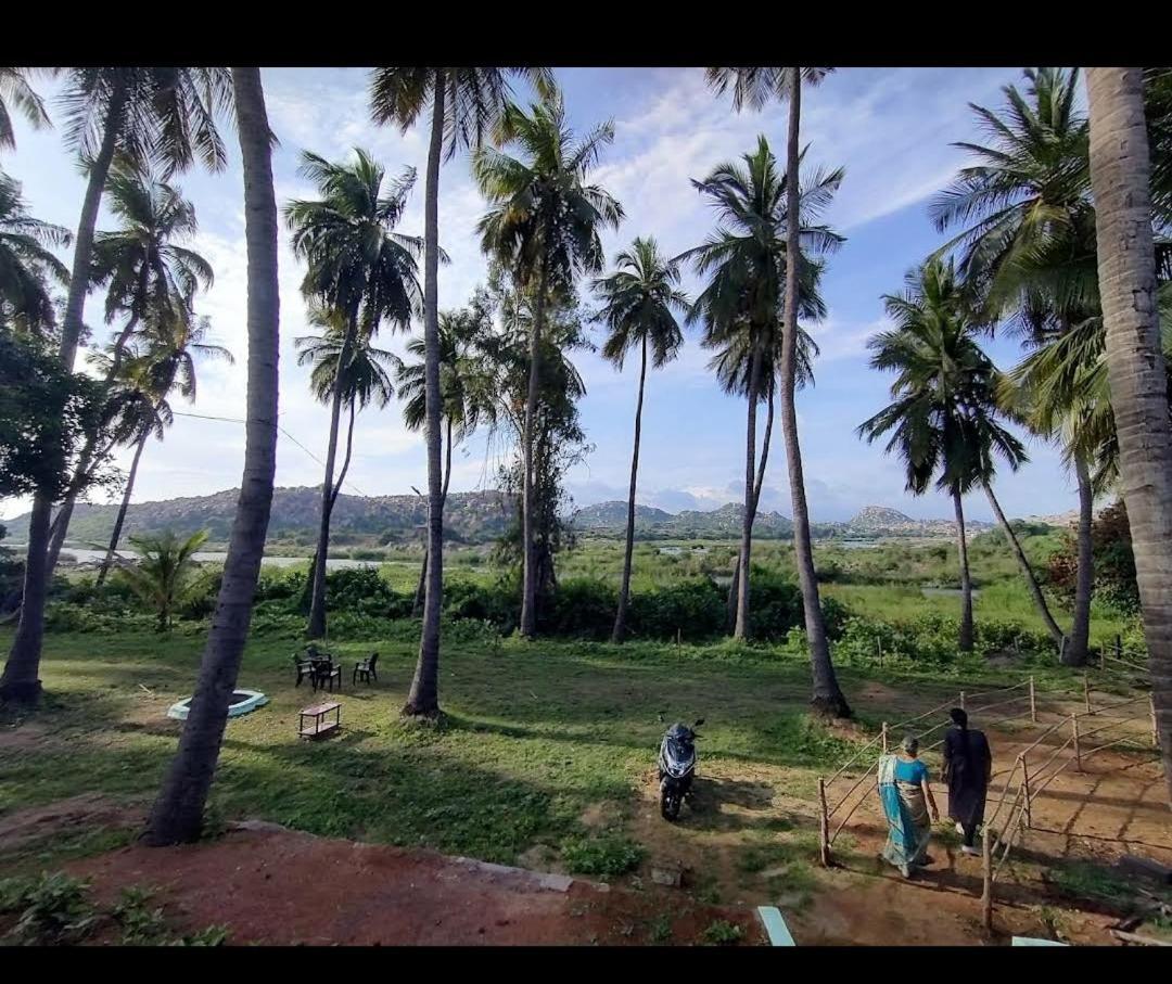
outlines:
[[[97,156],[89,165],[89,182],[86,185],[86,198],[82,200],[81,217],[77,220],[77,235],[74,239],[73,273],[69,278],[69,293],[66,299],[66,314],[61,328],[61,362],[71,370],[77,355],[77,343],[81,340],[82,310],[86,294],[89,291],[89,265],[94,253],[94,227],[97,225],[97,210],[102,204],[102,192],[105,191],[105,178],[110,171],[110,162],[122,130],[123,110],[127,95],[121,88],[114,93],[105,116],[105,129]],[[18,676],[12,677],[14,686],[8,692],[15,699],[19,695],[29,695],[36,701],[41,685],[38,681],[41,664],[41,642],[45,637],[45,600],[48,595],[46,582],[46,553],[49,545],[49,519],[53,514],[53,500],[43,492],[33,496],[33,515],[43,518],[43,535],[33,535],[32,525],[28,535],[28,549],[25,555],[25,594],[20,608],[20,623],[8,655],[8,664],[16,662]],[[32,518],[29,519],[32,524]],[[29,592],[29,572],[36,572],[41,583]],[[5,678],[8,677],[8,665],[5,667]],[[16,682],[20,682],[16,685]],[[34,685],[35,684],[35,685]],[[19,693],[18,693],[19,691]],[[5,688],[0,686],[0,693]]]

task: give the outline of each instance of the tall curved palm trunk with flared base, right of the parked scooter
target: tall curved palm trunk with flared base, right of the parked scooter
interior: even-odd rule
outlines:
[[[802,447],[798,444],[798,415],[793,401],[797,382],[798,340],[798,260],[800,258],[798,232],[800,210],[798,207],[798,131],[802,119],[802,69],[791,68],[790,76],[790,128],[785,146],[785,310],[783,312],[782,336],[782,436],[785,439],[785,464],[790,476],[790,498],[793,501],[793,556],[802,588],[802,608],[805,615],[806,642],[810,645],[810,670],[813,677],[816,711],[834,717],[850,717],[834,663],[830,656],[830,640],[826,623],[822,617],[822,600],[818,597],[818,579],[813,569],[813,548],[810,544],[810,511],[806,507],[805,478],[802,474]]]

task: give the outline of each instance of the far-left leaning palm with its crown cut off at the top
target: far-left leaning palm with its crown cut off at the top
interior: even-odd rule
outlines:
[[[89,293],[94,227],[102,192],[116,150],[137,162],[158,160],[164,173],[185,170],[198,155],[212,170],[224,164],[224,146],[214,117],[232,98],[227,70],[177,67],[84,67],[68,69],[62,94],[67,117],[66,142],[77,151],[87,172],[64,315],[61,320],[60,356],[73,370],[81,341],[82,309]],[[33,497],[26,581],[34,570],[48,567],[49,527],[53,501],[46,493]],[[41,520],[46,521],[42,524]],[[48,572],[48,573],[52,573]],[[26,592],[20,624],[8,654],[25,669],[22,678],[36,679],[45,629],[43,589]],[[40,685],[33,691],[33,699]]]

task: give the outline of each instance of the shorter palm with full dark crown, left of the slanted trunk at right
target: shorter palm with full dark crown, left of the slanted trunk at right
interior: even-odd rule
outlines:
[[[884,306],[895,327],[868,343],[871,367],[894,370],[893,403],[858,428],[872,443],[891,435],[887,452],[905,465],[907,490],[922,496],[939,473],[936,487],[952,496],[960,555],[960,649],[973,649],[973,585],[968,570],[961,496],[976,485],[992,486],[994,453],[1016,470],[1026,460],[1021,442],[996,419],[997,370],[977,344],[976,326],[966,312],[955,265],[935,258],[913,269],[901,295]]]

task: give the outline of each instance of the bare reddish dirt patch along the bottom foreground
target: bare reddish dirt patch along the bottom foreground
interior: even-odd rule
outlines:
[[[762,943],[751,910],[668,904],[657,889],[609,889],[465,859],[250,825],[170,849],[130,847],[68,866],[110,901],[156,889],[185,931],[225,924],[230,942],[273,944],[646,944],[702,942],[718,920]]]

